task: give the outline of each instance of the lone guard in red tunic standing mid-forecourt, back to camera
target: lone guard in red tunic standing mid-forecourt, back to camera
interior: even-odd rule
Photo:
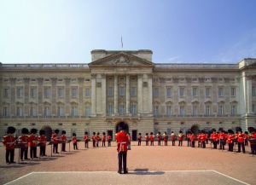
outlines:
[[[124,174],[128,173],[126,167],[126,159],[127,159],[127,150],[129,138],[127,133],[125,132],[125,123],[119,124],[119,132],[116,134],[116,142],[117,142],[117,152],[119,157],[119,171],[118,173],[122,173],[122,167]]]

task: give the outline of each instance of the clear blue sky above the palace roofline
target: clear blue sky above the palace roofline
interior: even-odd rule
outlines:
[[[92,49],[151,49],[160,63],[236,63],[256,58],[255,9],[255,0],[0,0],[0,62],[89,63]]]

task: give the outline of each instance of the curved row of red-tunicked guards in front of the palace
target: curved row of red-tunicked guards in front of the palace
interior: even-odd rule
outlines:
[[[28,147],[30,147],[30,157],[31,159],[40,158],[46,156],[45,150],[47,145],[47,140],[45,136],[44,130],[39,130],[39,136],[37,136],[38,130],[32,129],[29,133],[29,130],[23,128],[21,130],[21,136],[15,137],[15,128],[8,127],[7,129],[7,136],[3,136],[3,144],[6,147],[6,163],[12,164],[15,163],[14,156],[15,156],[15,148],[19,148],[19,163],[20,160],[23,161],[24,159],[28,159]],[[71,140],[67,140],[66,131],[61,131],[61,136],[59,136],[59,130],[55,130],[55,132],[51,136],[51,140],[48,143],[51,146],[51,156],[52,153],[59,153],[58,146],[61,143],[61,152],[66,151],[66,144],[69,144],[69,151],[70,151],[70,143],[73,142],[73,149],[79,149],[78,143],[81,141],[77,139],[75,133],[73,133],[73,137]],[[129,136],[130,138],[130,136]],[[165,146],[167,146],[168,141],[172,142],[172,146],[175,146],[175,142],[178,141],[178,146],[183,146],[183,140],[188,142],[188,147],[195,147],[195,142],[198,143],[198,147],[206,147],[208,142],[211,143],[211,148],[217,149],[219,145],[219,149],[224,150],[226,143],[229,145],[230,152],[242,152],[245,153],[245,146],[248,145],[248,141],[250,142],[252,154],[256,154],[256,133],[255,129],[251,130],[251,133],[248,134],[247,132],[242,133],[241,129],[236,130],[236,134],[233,130],[219,130],[218,132],[215,129],[212,129],[211,133],[206,133],[205,130],[199,131],[198,134],[194,134],[193,132],[189,131],[187,134],[183,134],[183,131],[179,131],[178,135],[176,135],[173,131],[169,136],[166,132],[161,135],[160,132],[156,136],[154,136],[153,132],[148,135],[143,136],[141,133],[138,134],[137,141],[138,146],[141,146],[142,141],[146,142],[146,146],[150,145],[154,146],[154,141],[158,142],[158,145],[161,145],[163,141]],[[88,132],[84,132],[84,147],[89,148],[89,142],[92,142],[93,147],[100,147],[100,142],[102,142],[102,147],[105,147],[105,142],[108,142],[108,147],[111,147],[112,136],[106,136],[106,133],[103,132],[102,136],[98,132],[93,132],[93,136],[89,136]],[[213,147],[212,147],[213,145]],[[238,150],[236,151],[236,145],[238,145]],[[37,147],[40,147],[39,156],[37,155]]]

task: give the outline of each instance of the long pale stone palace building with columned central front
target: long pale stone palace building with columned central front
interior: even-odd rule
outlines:
[[[8,126],[114,135],[256,127],[256,59],[154,63],[153,52],[91,51],[88,64],[0,64],[0,136]]]

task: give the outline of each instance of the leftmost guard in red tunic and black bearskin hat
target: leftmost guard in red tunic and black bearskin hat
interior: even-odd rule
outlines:
[[[9,126],[7,128],[7,136],[3,136],[3,145],[5,146],[5,161],[6,164],[15,163],[15,127]]]

